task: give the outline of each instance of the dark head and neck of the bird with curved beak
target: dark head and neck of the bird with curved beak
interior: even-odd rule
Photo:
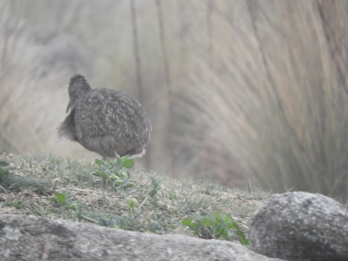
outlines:
[[[75,74],[70,79],[69,84],[69,96],[70,101],[68,104],[68,107],[66,107],[66,112],[69,111],[70,107],[73,107],[77,99],[84,94],[88,93],[90,90],[92,90],[86,81],[85,77],[83,77],[80,74]]]

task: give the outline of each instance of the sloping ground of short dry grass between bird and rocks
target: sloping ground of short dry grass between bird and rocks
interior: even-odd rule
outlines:
[[[125,187],[123,193],[121,186],[93,175],[99,169],[90,161],[45,154],[0,155],[0,214],[31,214],[133,231],[238,241],[234,229],[224,236],[211,229],[204,232],[208,226],[199,222],[196,229],[190,229],[182,220],[200,219],[207,224],[206,215],[214,222],[212,213],[222,217],[229,214],[246,232],[251,213],[270,196],[260,190],[249,192],[207,182],[173,180],[141,170],[129,170],[127,184],[133,187]],[[221,230],[217,223],[210,228]]]

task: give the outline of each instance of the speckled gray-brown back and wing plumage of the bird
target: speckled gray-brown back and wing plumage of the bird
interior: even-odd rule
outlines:
[[[93,89],[74,106],[78,139],[113,135],[120,143],[146,145],[150,120],[132,96],[117,90]]]

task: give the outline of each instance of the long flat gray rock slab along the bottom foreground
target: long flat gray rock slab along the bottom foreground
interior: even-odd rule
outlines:
[[[277,261],[221,240],[155,235],[36,216],[0,215],[0,260]]]

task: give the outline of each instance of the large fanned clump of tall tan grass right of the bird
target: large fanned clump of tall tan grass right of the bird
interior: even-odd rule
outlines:
[[[211,38],[193,38],[196,70],[178,91],[186,101],[178,103],[180,115],[190,114],[190,128],[196,130],[183,147],[208,154],[192,158],[217,166],[226,158],[235,175],[275,191],[347,198],[348,103],[340,77],[342,71],[347,74],[336,61],[345,61],[345,55],[334,49],[339,58],[332,57],[332,48],[347,42],[333,35],[334,23],[342,32],[347,26],[329,19],[348,20],[341,5],[346,2],[242,1],[233,10],[213,6]],[[216,170],[224,172],[224,166]],[[234,182],[230,175],[229,184]]]

